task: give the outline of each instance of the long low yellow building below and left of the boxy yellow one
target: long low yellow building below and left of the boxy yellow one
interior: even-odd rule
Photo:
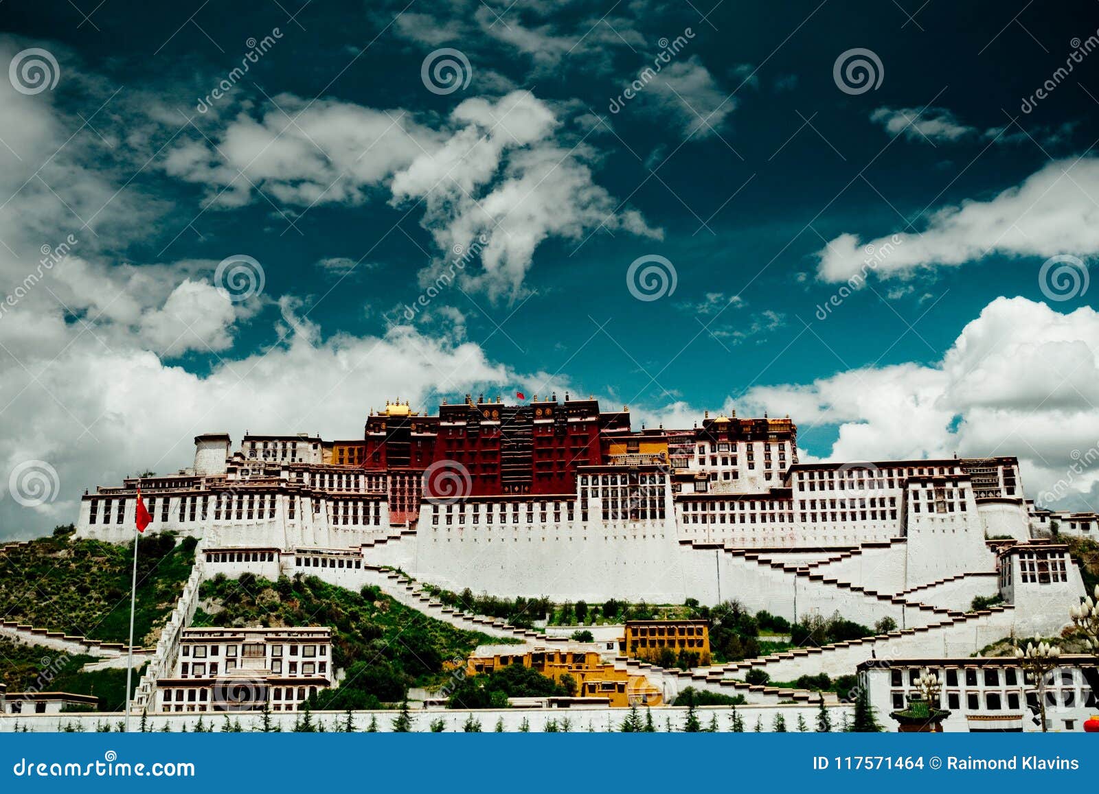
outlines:
[[[509,664],[533,668],[543,675],[560,683],[563,675],[576,681],[580,697],[607,697],[614,707],[658,706],[664,697],[644,675],[632,675],[625,670],[602,661],[596,651],[534,650],[525,653],[495,653],[491,657],[471,656],[466,662],[466,674],[492,672]]]

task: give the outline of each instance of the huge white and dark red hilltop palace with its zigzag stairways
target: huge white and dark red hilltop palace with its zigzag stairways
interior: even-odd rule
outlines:
[[[802,705],[820,697],[747,685],[745,672],[792,681],[873,659],[964,664],[1006,637],[1058,634],[1084,595],[1015,458],[801,463],[789,418],[733,413],[635,429],[626,407],[602,411],[593,399],[467,395],[437,415],[400,402],[371,410],[358,439],[246,434],[234,446],[208,434],[195,444],[190,469],[87,493],[77,523],[79,537],[129,543],[140,487],[148,532],[199,538],[195,573],[142,682],[151,709],[158,680],[178,684],[198,586],[218,573],[380,584],[454,625],[557,648],[566,637],[464,615],[422,588],[736,600],[790,620],[839,613],[867,626],[892,618],[897,629],[875,637],[690,671],[620,657],[613,642],[586,649],[644,675],[666,701],[691,685],[762,704],[790,703],[793,692]],[[976,596],[996,595],[1000,605],[972,610]],[[887,711],[914,686],[906,672],[890,689],[888,671],[872,668],[862,674]]]

